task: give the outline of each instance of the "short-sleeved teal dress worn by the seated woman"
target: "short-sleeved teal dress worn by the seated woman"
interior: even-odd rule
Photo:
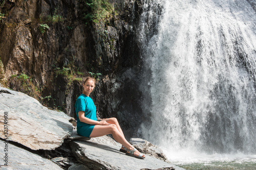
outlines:
[[[77,116],[77,133],[81,136],[90,137],[95,125],[80,122],[78,112],[84,111],[85,117],[97,120],[96,107],[93,100],[89,96],[81,94],[76,100],[75,109]]]

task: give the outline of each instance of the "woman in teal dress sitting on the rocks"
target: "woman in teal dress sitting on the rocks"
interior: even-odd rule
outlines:
[[[83,92],[76,100],[77,133],[86,137],[99,137],[112,134],[114,139],[122,144],[121,152],[129,156],[144,159],[145,156],[125,139],[116,118],[104,118],[97,121],[96,107],[89,97],[95,87],[95,82],[95,79],[87,77],[83,82]]]

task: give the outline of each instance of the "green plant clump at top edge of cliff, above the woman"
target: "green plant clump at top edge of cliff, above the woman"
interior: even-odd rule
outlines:
[[[87,21],[99,22],[100,19],[109,17],[114,8],[109,0],[81,0],[85,8],[83,19]]]

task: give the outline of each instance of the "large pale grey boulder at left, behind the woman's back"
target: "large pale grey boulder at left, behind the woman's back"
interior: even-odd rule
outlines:
[[[49,110],[30,96],[3,87],[0,87],[0,112],[0,120],[6,119],[8,123],[0,122],[0,138],[32,150],[53,150],[73,130],[65,113]]]

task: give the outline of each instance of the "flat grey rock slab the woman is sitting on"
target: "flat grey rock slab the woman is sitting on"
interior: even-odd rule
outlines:
[[[70,169],[183,169],[148,155],[145,159],[127,156],[119,152],[121,144],[109,136],[91,138],[89,141],[72,140],[70,146],[81,163],[72,165]]]

